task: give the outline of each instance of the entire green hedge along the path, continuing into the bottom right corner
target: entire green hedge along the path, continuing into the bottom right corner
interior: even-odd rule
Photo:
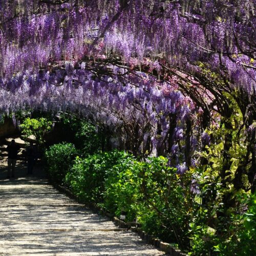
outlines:
[[[198,194],[195,185],[202,179],[199,170],[179,175],[164,157],[138,161],[118,151],[75,156],[70,143],[53,145],[46,153],[52,179],[65,183],[84,203],[117,217],[125,214],[126,221],[137,220],[143,230],[190,250],[191,255],[256,255],[255,196],[244,214],[234,212],[224,221],[227,226],[220,227],[220,236],[209,222],[218,224],[214,210],[209,212],[202,205],[204,188]],[[244,191],[239,197],[241,205],[248,205]],[[212,205],[212,209],[220,206]]]

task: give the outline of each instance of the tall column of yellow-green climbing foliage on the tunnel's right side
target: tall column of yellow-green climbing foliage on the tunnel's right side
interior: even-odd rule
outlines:
[[[246,130],[238,104],[230,95],[223,95],[232,112],[229,118],[218,116],[220,120],[205,131],[211,136],[211,144],[200,153],[208,164],[197,169],[201,195],[189,224],[191,254],[255,255],[242,244],[242,237],[248,236],[248,248],[253,248],[250,232],[244,233],[243,224],[250,195]]]

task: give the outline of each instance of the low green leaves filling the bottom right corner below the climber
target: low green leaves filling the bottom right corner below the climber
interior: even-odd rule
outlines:
[[[218,202],[212,203],[211,208],[201,205],[195,211],[189,224],[190,255],[255,255],[255,195],[250,199],[241,189],[235,196],[237,205],[229,209],[229,216],[224,204]],[[249,209],[245,211],[247,205]]]

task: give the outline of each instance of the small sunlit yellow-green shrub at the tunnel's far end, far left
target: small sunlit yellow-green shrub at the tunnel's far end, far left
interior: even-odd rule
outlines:
[[[34,135],[39,144],[45,142],[44,136],[52,129],[53,122],[47,118],[30,118],[24,119],[23,123],[19,125],[22,134],[26,137]]]

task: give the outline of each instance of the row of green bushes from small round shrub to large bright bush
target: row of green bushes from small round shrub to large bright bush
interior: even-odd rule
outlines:
[[[183,230],[188,228],[192,206],[190,199],[185,199],[186,204],[180,202],[191,195],[190,177],[177,175],[164,157],[142,162],[112,151],[77,156],[71,165],[74,154],[69,143],[50,147],[46,156],[51,177],[62,179],[84,203],[96,204],[118,217],[123,213],[126,221],[137,220],[145,231],[169,242],[185,242]]]

